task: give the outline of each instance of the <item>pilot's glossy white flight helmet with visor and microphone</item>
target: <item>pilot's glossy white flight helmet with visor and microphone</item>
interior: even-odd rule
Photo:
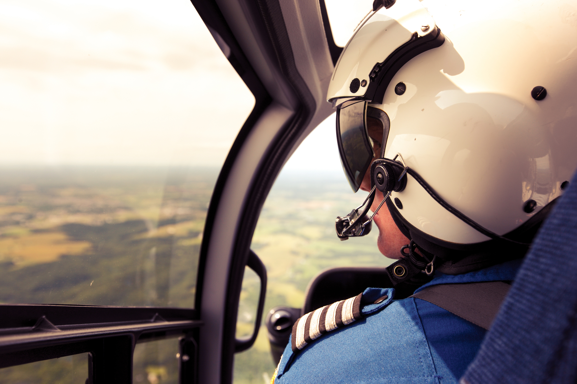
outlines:
[[[419,249],[524,253],[577,167],[576,48],[574,0],[376,0],[328,88],[351,186],[380,158],[373,186]]]

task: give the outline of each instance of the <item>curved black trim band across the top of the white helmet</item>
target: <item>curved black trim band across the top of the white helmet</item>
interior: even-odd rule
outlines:
[[[417,55],[440,47],[444,42],[445,36],[437,27],[422,37],[418,37],[417,32],[415,32],[411,40],[396,48],[385,61],[374,65],[369,74],[368,88],[362,98],[372,103],[383,103],[385,91],[399,69]]]

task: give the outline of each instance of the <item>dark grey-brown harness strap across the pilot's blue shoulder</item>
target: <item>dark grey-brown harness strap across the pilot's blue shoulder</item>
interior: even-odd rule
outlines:
[[[511,285],[503,281],[440,284],[427,287],[409,297],[435,304],[488,330],[509,288]]]

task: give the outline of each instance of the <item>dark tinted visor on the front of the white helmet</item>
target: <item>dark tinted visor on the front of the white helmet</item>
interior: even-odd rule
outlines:
[[[336,111],[336,141],[340,161],[355,192],[361,186],[374,156],[365,128],[366,104],[366,101],[347,101]]]

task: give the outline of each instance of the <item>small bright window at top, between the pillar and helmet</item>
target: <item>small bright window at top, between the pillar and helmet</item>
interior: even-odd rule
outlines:
[[[325,0],[332,37],[339,47],[346,46],[365,16],[373,10],[372,0]]]

